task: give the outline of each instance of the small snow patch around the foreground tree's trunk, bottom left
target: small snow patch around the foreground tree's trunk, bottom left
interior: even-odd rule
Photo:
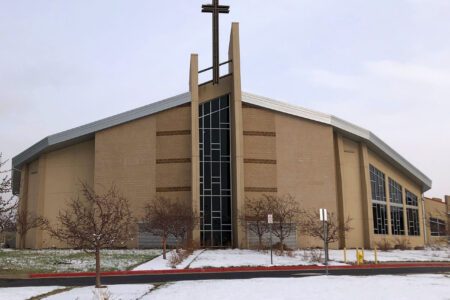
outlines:
[[[153,285],[149,284],[123,284],[123,285],[110,285],[105,296],[106,299],[120,299],[120,300],[136,300],[141,299],[144,295],[148,294]],[[44,298],[46,300],[74,300],[74,299],[96,299],[96,291],[94,287],[82,287],[75,288],[70,291],[56,294]],[[1,298],[3,299],[3,298]],[[7,298],[5,298],[7,299]],[[24,298],[22,298],[24,299]],[[8,299],[9,300],[9,299]]]

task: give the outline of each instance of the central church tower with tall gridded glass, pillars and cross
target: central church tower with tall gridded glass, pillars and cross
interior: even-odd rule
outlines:
[[[193,233],[203,247],[242,247],[245,232],[238,215],[244,204],[242,91],[239,24],[233,23],[228,60],[220,63],[218,14],[228,7],[204,5],[213,13],[213,66],[199,70],[199,57],[191,55],[189,90],[192,129],[192,207],[201,222]],[[220,76],[220,67],[228,66]],[[212,71],[212,80],[199,82],[199,74]]]

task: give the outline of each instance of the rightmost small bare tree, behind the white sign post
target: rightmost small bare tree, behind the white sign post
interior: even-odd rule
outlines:
[[[351,221],[352,219],[348,217],[340,224],[333,212],[328,213],[327,236],[325,240],[323,222],[320,221],[319,210],[305,210],[302,212],[300,228],[301,231],[308,236],[318,238],[327,243],[334,243],[337,242],[341,236],[352,230],[352,227],[350,226]]]

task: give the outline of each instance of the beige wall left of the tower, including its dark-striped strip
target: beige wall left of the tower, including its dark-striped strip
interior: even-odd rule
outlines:
[[[138,221],[156,196],[190,202],[190,122],[184,105],[98,132],[96,188],[117,185]]]

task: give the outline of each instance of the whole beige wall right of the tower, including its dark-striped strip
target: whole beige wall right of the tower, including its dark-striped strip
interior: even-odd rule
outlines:
[[[301,208],[337,213],[331,126],[246,105],[243,131],[247,198],[290,194]],[[299,247],[321,245],[299,231],[297,241]]]

